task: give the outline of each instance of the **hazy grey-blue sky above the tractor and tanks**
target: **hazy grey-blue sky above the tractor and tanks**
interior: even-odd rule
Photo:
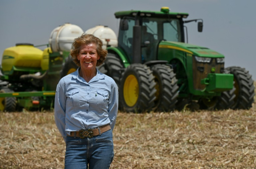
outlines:
[[[203,19],[187,24],[189,43],[211,48],[225,55],[225,67],[240,66],[256,80],[255,0],[0,0],[0,52],[16,43],[47,44],[51,31],[71,23],[84,31],[107,25],[116,34],[121,10],[187,12],[187,19]]]

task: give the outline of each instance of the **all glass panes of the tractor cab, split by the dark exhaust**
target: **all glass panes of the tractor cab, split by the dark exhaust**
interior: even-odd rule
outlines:
[[[125,17],[122,20],[126,21],[126,28],[119,30],[118,47],[125,51],[131,61],[135,18]],[[120,25],[121,23],[123,22],[121,21]],[[182,42],[181,20],[179,19],[142,17],[140,25],[142,63],[157,60],[157,48],[160,41]]]

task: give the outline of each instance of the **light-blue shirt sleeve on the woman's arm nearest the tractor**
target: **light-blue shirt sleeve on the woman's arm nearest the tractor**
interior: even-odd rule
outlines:
[[[109,97],[109,105],[107,111],[109,113],[110,126],[113,131],[118,112],[118,87],[115,82],[111,84],[111,94]]]

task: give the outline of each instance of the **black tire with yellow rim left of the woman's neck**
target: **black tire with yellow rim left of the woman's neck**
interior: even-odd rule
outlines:
[[[78,65],[75,64],[75,62],[73,61],[73,58],[71,55],[69,55],[66,59],[65,59],[65,63],[62,67],[61,70],[61,78],[63,78],[65,75],[68,75],[74,71],[76,71],[78,68]]]

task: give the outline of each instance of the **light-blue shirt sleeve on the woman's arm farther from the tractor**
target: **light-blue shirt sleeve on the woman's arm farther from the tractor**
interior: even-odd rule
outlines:
[[[61,133],[64,141],[66,142],[65,132],[65,116],[66,116],[66,96],[65,96],[65,83],[61,79],[56,88],[55,102],[54,102],[54,119],[55,124]]]

